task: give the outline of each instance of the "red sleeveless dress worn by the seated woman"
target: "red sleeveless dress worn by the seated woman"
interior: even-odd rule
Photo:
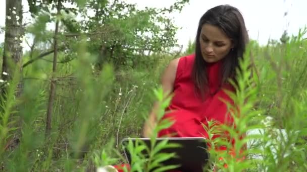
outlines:
[[[221,85],[219,75],[221,61],[210,63],[207,66],[209,93],[206,93],[202,100],[197,96],[194,89],[194,82],[191,77],[195,55],[181,57],[178,62],[176,78],[174,82],[174,96],[171,104],[166,109],[168,113],[164,118],[174,120],[174,124],[160,131],[159,137],[208,137],[202,124],[215,120],[218,123],[232,122],[227,113],[227,106],[220,100],[233,104],[230,97],[222,90],[234,91],[230,85]],[[217,136],[215,136],[217,137]]]

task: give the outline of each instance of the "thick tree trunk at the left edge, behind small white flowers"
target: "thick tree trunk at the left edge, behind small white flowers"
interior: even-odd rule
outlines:
[[[9,81],[15,66],[20,67],[22,63],[22,38],[24,29],[22,24],[22,0],[6,0],[6,26],[5,26],[5,44],[2,64],[2,79]],[[16,65],[19,64],[19,65]],[[14,66],[15,65],[15,66]],[[22,68],[20,67],[20,72]],[[20,95],[21,83],[18,84],[17,95]],[[5,88],[2,88],[4,95]]]

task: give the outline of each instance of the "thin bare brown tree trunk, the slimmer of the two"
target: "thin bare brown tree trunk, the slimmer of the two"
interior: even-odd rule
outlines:
[[[61,0],[58,0],[58,7],[57,13],[58,15],[61,14]],[[48,108],[47,108],[47,115],[46,115],[46,131],[45,135],[46,138],[49,136],[51,127],[52,127],[52,113],[53,113],[53,105],[56,95],[56,72],[57,72],[57,56],[58,56],[58,33],[59,33],[59,24],[60,20],[57,19],[56,22],[56,29],[55,29],[55,37],[54,37],[54,59],[53,59],[53,67],[52,67],[52,79],[50,83],[50,93],[49,93],[49,100],[48,100]]]

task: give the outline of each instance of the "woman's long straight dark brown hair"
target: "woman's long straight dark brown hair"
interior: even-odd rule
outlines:
[[[200,32],[204,24],[210,24],[220,28],[225,34],[233,40],[234,48],[223,58],[221,67],[221,83],[228,79],[235,80],[235,69],[239,67],[239,58],[243,58],[246,44],[248,43],[248,34],[244,19],[237,8],[229,5],[221,5],[208,10],[199,20],[196,42],[195,42],[195,62],[192,70],[192,79],[195,89],[204,96],[208,91],[209,81],[207,77],[206,64],[200,50]]]

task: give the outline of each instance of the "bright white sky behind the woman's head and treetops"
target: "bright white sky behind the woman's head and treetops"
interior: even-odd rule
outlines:
[[[27,1],[22,0],[27,11]],[[126,0],[137,3],[139,8],[148,7],[169,7],[175,0]],[[279,39],[284,29],[289,34],[297,35],[298,29],[307,25],[307,1],[306,0],[190,0],[180,14],[173,14],[172,17],[178,30],[176,37],[178,43],[184,48],[189,39],[194,40],[199,18],[208,9],[218,5],[229,4],[237,7],[245,20],[247,30],[251,39],[258,40],[260,44],[266,44],[269,38]],[[284,17],[284,13],[288,15]],[[5,0],[0,2],[0,26],[5,25]],[[0,35],[0,42],[4,41],[4,35]],[[26,47],[27,48],[27,47]]]

